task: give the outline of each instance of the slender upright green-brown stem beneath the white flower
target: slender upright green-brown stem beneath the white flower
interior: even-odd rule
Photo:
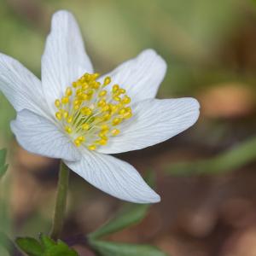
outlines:
[[[60,238],[61,230],[63,228],[66,205],[67,205],[68,179],[69,179],[69,169],[61,161],[53,225],[52,225],[52,230],[50,232],[50,237],[54,240],[57,240],[58,238]]]

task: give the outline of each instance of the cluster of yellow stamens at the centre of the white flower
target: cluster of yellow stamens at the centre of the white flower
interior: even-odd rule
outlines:
[[[106,145],[108,137],[118,135],[119,125],[132,116],[131,98],[125,89],[114,84],[106,90],[111,78],[101,84],[98,77],[98,73],[85,73],[67,87],[65,96],[55,100],[55,118],[77,147],[84,145],[90,150]]]

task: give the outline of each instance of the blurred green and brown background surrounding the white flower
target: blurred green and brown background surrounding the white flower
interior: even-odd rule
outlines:
[[[151,243],[173,256],[255,256],[256,3],[1,0],[0,51],[40,77],[57,9],[79,20],[96,72],[153,48],[168,63],[158,96],[201,102],[201,117],[189,131],[119,155],[142,174],[155,172],[162,201],[141,224],[108,239]],[[58,162],[20,148],[9,131],[14,118],[1,95],[0,148],[9,148],[11,165],[0,184],[0,226],[10,236],[37,236],[50,228]],[[96,230],[121,204],[72,173],[64,238]]]

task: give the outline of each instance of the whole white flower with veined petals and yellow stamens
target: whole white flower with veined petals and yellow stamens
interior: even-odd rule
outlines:
[[[102,42],[104,44],[104,42]],[[0,90],[17,111],[11,129],[34,154],[62,159],[98,189],[125,201],[160,201],[134,167],[108,154],[161,143],[193,125],[193,98],[155,99],[166,62],[146,49],[102,77],[93,72],[79,26],[55,13],[42,57],[42,81],[0,54]]]

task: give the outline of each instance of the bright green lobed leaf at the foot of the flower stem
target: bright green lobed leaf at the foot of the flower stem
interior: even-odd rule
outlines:
[[[48,236],[41,235],[39,241],[31,238],[17,238],[17,245],[28,256],[78,256],[73,249],[63,241],[53,241]]]

